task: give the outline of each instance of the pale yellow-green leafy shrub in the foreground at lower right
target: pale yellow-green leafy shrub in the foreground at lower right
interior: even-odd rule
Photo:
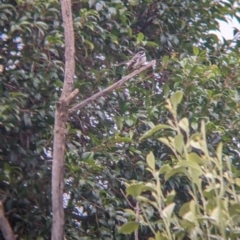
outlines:
[[[139,204],[140,211],[132,212],[138,221],[125,223],[119,232],[131,233],[139,223],[151,229],[154,237],[149,239],[238,239],[240,171],[232,166],[229,156],[222,153],[221,142],[215,152],[208,150],[204,121],[199,132],[189,135],[188,119],[178,120],[177,117],[176,108],[181,97],[181,92],[176,92],[167,99],[172,134],[158,138],[171,149],[169,160],[172,164],[163,164],[156,169],[153,153],[147,155],[146,170],[152,178],[134,181],[127,184],[126,189],[127,196],[133,196]],[[187,191],[191,196],[180,209],[175,208],[176,192],[164,192],[164,183],[160,181],[162,178],[166,182],[178,175],[188,179]],[[149,215],[147,209],[150,206],[155,211]]]

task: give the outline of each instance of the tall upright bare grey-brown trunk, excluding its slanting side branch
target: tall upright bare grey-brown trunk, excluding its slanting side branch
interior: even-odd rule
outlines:
[[[66,122],[68,119],[69,102],[75,95],[74,92],[72,92],[75,73],[75,47],[71,0],[61,0],[61,9],[65,39],[65,74],[63,91],[61,97],[56,103],[54,123],[52,165],[52,240],[64,239],[63,175]]]

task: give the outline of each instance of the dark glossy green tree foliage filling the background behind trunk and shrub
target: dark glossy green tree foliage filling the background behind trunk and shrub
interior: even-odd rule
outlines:
[[[60,4],[55,0],[0,3],[1,200],[19,239],[49,239],[54,112],[65,63]],[[176,132],[159,126],[169,120],[187,118],[189,137],[200,131],[204,120],[209,154],[215,156],[222,142],[222,154],[229,156],[234,168],[227,169],[238,179],[239,42],[220,42],[209,31],[219,30],[218,20],[240,21],[239,10],[234,0],[72,1],[74,87],[79,89],[72,106],[127,75],[126,67],[116,64],[139,50],[149,61],[155,59],[156,66],[70,114],[64,173],[67,239],[134,239],[134,234],[118,232],[133,220],[124,209],[134,211],[137,203],[138,195],[127,186],[133,180],[142,184],[152,179],[145,160],[150,151],[157,168],[178,163],[180,155],[169,148],[171,144],[159,141],[175,137]],[[175,92],[182,93],[182,100],[175,106],[177,111],[169,112],[166,100]],[[186,144],[187,135],[182,136],[179,141]],[[202,149],[195,148],[193,152],[202,156]],[[160,175],[161,190],[165,197],[176,192],[177,215],[193,199],[188,191],[191,178],[177,170],[171,174]],[[201,177],[206,174],[203,171]],[[236,179],[229,201],[239,195]],[[231,211],[239,211],[234,206]],[[158,219],[152,207],[146,211],[149,221]],[[238,218],[234,219],[236,225],[225,226],[226,231],[238,229]],[[139,239],[153,237],[151,229],[139,222]],[[191,227],[173,239],[191,239],[187,229]],[[210,235],[217,231],[211,230]],[[237,231],[234,234],[231,239],[239,237]]]

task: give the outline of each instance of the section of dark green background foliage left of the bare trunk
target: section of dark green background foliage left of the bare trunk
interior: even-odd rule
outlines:
[[[43,149],[52,145],[56,86],[63,76],[58,3],[0,5],[1,199],[14,232],[37,239],[51,230],[51,162]]]

